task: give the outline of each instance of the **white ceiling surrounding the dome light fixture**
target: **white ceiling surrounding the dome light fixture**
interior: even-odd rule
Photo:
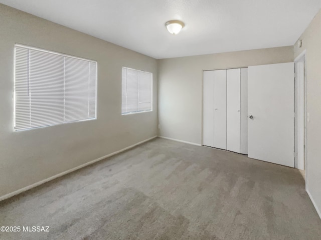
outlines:
[[[168,58],[293,45],[320,0],[0,0],[152,56]],[[170,34],[165,22],[185,22]]]

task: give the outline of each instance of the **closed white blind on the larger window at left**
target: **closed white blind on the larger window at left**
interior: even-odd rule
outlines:
[[[15,45],[15,129],[96,118],[97,62]]]

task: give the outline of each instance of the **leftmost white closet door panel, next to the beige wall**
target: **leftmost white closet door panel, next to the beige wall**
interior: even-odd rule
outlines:
[[[203,145],[214,146],[214,71],[203,72]]]

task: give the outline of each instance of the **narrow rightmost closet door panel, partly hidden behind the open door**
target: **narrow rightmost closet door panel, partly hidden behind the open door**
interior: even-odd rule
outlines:
[[[240,153],[247,154],[247,68],[241,68]]]

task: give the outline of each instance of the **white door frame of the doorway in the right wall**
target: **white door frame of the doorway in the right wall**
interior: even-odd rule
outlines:
[[[303,62],[303,70],[304,70],[304,77],[303,79],[297,78],[297,64],[298,62]],[[295,109],[297,109],[299,106],[303,106],[303,125],[298,125],[297,124],[297,120],[295,120],[295,126],[294,126],[294,132],[295,134],[297,134],[299,129],[303,128],[303,136],[301,136],[301,138],[299,139],[297,136],[295,137],[295,142],[294,142],[294,146],[295,146],[295,168],[297,168],[298,166],[298,158],[297,158],[297,146],[300,140],[303,140],[303,160],[304,160],[304,170],[305,170],[305,189],[307,186],[307,137],[306,137],[306,123],[307,123],[307,111],[306,111],[306,50],[304,49],[295,59],[294,59],[294,63],[295,63],[295,89],[294,89],[294,97],[295,97]],[[303,84],[298,84],[298,82],[303,81]],[[304,89],[301,89],[301,87],[303,86]],[[297,93],[298,92],[303,92],[303,99],[301,99],[301,101],[299,101],[299,99],[297,98]],[[302,102],[303,101],[303,102]],[[295,111],[295,118],[297,119],[298,117],[298,111]],[[301,115],[302,117],[302,115]],[[302,139],[303,137],[303,139]]]

